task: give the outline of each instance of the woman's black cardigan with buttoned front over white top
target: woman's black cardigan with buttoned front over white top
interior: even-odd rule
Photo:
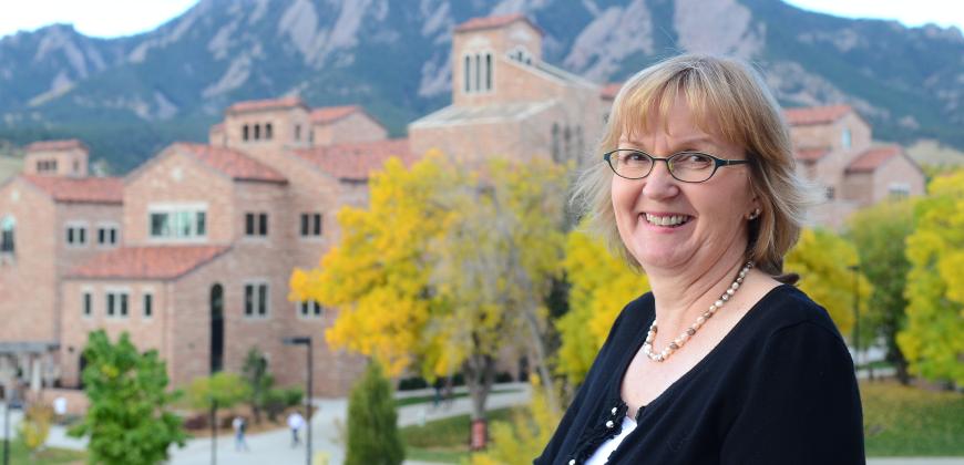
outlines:
[[[582,464],[618,434],[623,374],[654,318],[652,293],[623,309],[536,465]],[[847,345],[827,311],[787,285],[760,299],[636,421],[608,463],[865,463]]]

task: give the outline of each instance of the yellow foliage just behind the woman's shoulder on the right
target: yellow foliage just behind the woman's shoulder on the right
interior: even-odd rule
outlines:
[[[857,249],[842,237],[824,229],[804,229],[800,241],[787,254],[783,268],[799,273],[800,289],[827,309],[840,332],[850,334],[854,301],[860,301],[859,311],[865,313],[873,291],[870,281],[854,268],[858,264]]]

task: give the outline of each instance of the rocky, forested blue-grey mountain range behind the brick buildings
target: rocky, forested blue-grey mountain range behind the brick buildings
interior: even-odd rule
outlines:
[[[960,30],[779,0],[201,0],[129,38],[51,25],[0,39],[0,138],[82,137],[123,172],[205,140],[235,101],[283,94],[361,103],[400,135],[450,99],[452,28],[512,12],[543,28],[547,61],[599,83],[681,51],[732,54],[786,105],[847,102],[878,138],[964,147]]]

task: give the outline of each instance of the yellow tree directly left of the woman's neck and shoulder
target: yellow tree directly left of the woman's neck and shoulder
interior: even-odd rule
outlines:
[[[556,321],[562,340],[557,370],[576,385],[589,371],[619,311],[648,291],[649,282],[580,229],[568,235],[564,267],[572,287],[570,311]]]

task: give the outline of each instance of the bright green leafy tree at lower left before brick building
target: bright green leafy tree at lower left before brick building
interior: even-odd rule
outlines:
[[[90,407],[70,434],[90,438],[91,464],[157,464],[167,461],[171,444],[184,446],[182,420],[170,412],[177,394],[167,391],[157,351],[139,353],[126,332],[112,344],[98,330],[90,333],[83,354]]]

